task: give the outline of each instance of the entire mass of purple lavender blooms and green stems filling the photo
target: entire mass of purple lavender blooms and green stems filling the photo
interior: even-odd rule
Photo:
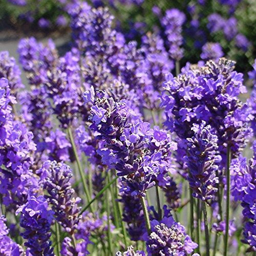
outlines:
[[[245,50],[239,3],[220,3],[231,17],[208,15],[208,28]],[[254,253],[255,88],[241,94],[255,72],[246,80],[214,41],[185,62],[178,9],[155,7],[162,31],[138,43],[93,5],[72,3],[63,56],[52,40],[20,40],[26,90],[0,53],[0,254]]]

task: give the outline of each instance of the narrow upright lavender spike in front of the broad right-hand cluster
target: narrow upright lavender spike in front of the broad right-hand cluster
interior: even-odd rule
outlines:
[[[191,129],[195,135],[187,139],[187,156],[185,157],[189,169],[189,185],[193,196],[203,201],[214,197],[219,182],[215,172],[221,157],[218,150],[218,137],[212,134],[210,125],[202,121],[200,125],[194,124]]]

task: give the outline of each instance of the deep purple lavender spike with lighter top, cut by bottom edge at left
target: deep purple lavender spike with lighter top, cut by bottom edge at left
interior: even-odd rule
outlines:
[[[24,243],[33,255],[54,256],[50,241],[50,227],[53,220],[53,211],[48,209],[48,203],[43,196],[30,196],[28,202],[16,210],[21,213],[20,226],[25,229],[21,233],[27,240]]]

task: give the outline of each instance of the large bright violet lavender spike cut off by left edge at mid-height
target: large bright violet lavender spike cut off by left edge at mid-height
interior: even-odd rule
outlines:
[[[36,147],[33,134],[25,124],[13,120],[10,95],[6,78],[0,79],[0,181],[3,204],[11,210],[27,201],[28,194],[38,188],[37,177],[32,173],[33,152]]]

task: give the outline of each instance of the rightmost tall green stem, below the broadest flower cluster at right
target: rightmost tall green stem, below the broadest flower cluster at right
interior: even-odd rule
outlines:
[[[230,146],[227,146],[227,172],[226,172],[226,183],[227,183],[227,197],[226,197],[226,227],[225,227],[225,237],[224,237],[224,256],[227,255],[228,246],[228,227],[229,227],[229,198],[230,198],[230,159],[231,159]]]

